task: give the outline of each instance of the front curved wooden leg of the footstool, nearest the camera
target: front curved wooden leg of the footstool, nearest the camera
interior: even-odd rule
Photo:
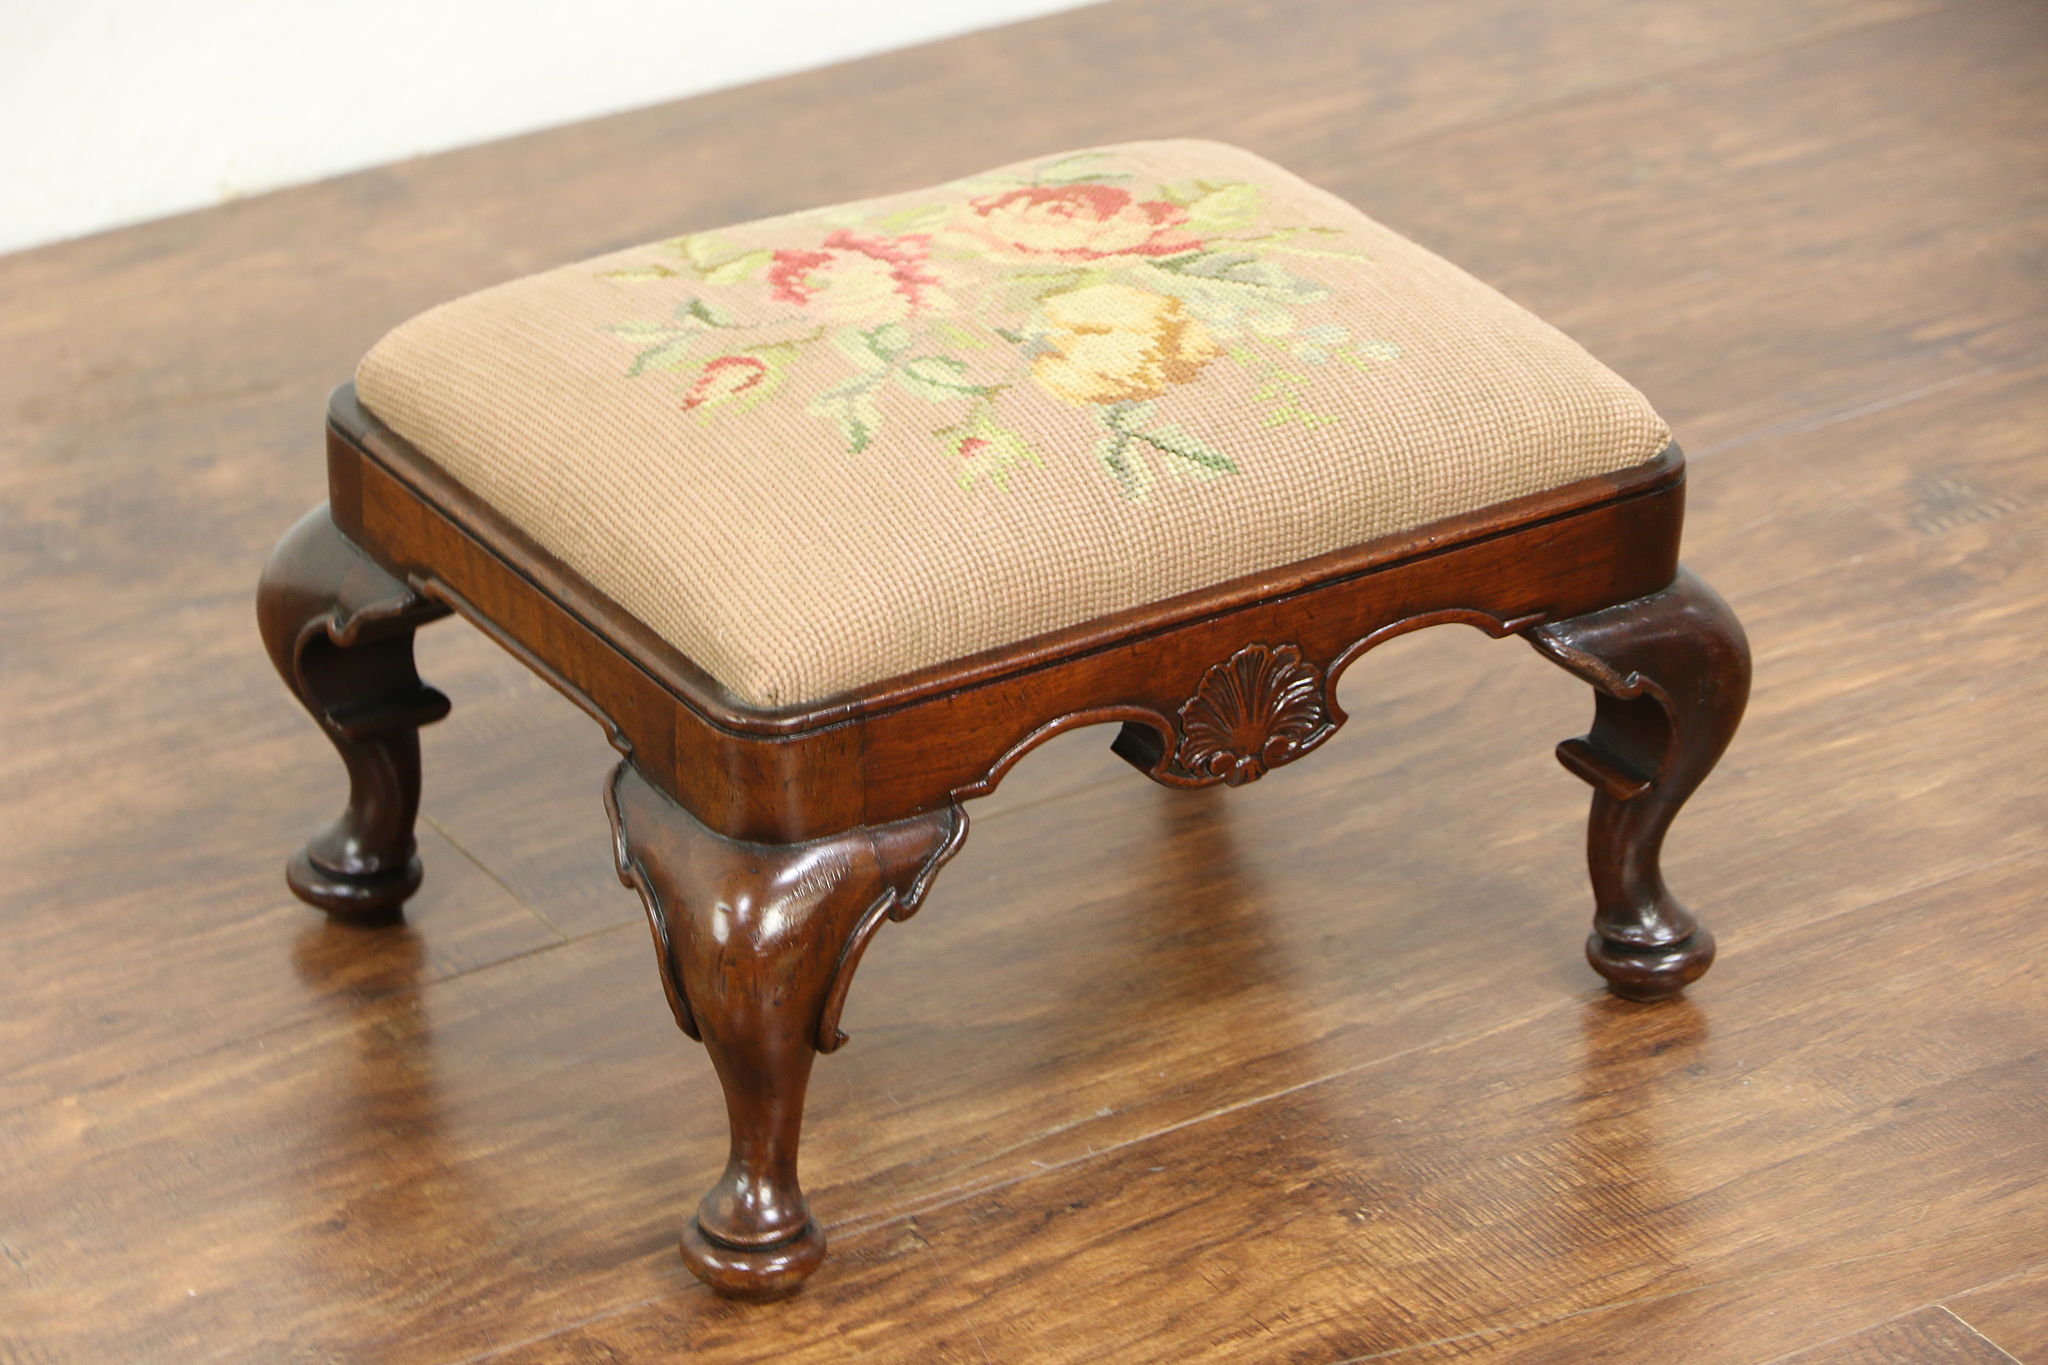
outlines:
[[[825,1254],[797,1181],[813,1052],[868,939],[907,919],[967,833],[956,806],[807,843],[743,843],[621,763],[606,792],[618,876],[641,892],[676,1023],[711,1052],[731,1156],[682,1257],[721,1293],[774,1297]]]

